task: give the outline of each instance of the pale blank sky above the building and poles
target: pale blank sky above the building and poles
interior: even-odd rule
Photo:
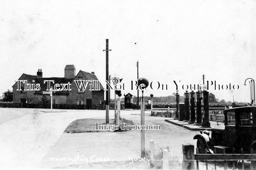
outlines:
[[[1,0],[0,92],[39,68],[43,77],[64,77],[68,64],[104,84],[109,39],[110,75],[129,86],[138,60],[139,77],[168,85],[145,95],[171,95],[173,80],[198,84],[204,74],[239,85],[210,89],[219,100],[249,102],[244,80],[256,79],[255,28],[255,0]],[[136,95],[128,89],[122,93]]]

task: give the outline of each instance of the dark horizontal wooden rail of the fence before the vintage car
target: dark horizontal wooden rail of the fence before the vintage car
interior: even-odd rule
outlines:
[[[256,160],[256,154],[195,154],[195,160]]]

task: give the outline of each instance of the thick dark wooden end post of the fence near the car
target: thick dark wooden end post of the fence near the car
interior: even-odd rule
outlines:
[[[191,144],[183,144],[183,162],[182,162],[182,169],[183,170],[194,170],[194,160],[195,160],[195,153],[194,153],[194,145]]]

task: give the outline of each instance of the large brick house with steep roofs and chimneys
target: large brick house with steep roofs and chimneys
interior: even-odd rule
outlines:
[[[35,104],[49,104],[50,95],[47,92],[46,80],[54,80],[54,84],[67,84],[70,83],[70,91],[61,90],[53,91],[52,99],[53,104],[76,104],[86,105],[90,108],[92,104],[99,104],[104,100],[104,88],[99,81],[98,91],[89,90],[91,82],[88,83],[85,90],[78,89],[74,80],[98,80],[94,72],[88,73],[80,70],[75,74],[74,65],[66,65],[64,69],[64,77],[50,77],[44,78],[42,69],[38,69],[37,75],[22,74],[18,80],[27,80],[27,84],[21,83],[21,91],[18,91],[18,82],[12,86],[13,88],[13,103],[35,103]],[[30,84],[30,85],[29,85]],[[39,91],[26,91],[25,89],[31,88],[31,84],[40,84]],[[53,84],[53,85],[54,85]],[[25,85],[27,88],[25,88]],[[52,88],[53,86],[51,86]]]

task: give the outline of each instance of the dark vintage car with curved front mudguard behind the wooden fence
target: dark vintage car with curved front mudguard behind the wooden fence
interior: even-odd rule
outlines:
[[[199,154],[214,154],[214,147],[225,148],[225,153],[256,153],[256,106],[224,110],[224,125],[195,135]]]

